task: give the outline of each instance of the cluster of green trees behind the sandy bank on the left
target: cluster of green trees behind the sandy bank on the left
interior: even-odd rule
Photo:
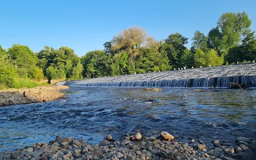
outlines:
[[[35,87],[42,79],[80,79],[83,66],[74,50],[45,47],[34,53],[28,46],[14,44],[7,51],[0,45],[0,89]]]

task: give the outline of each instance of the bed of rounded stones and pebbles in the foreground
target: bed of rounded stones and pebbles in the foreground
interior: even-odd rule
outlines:
[[[129,133],[120,141],[107,135],[98,145],[84,140],[62,138],[49,143],[5,151],[0,159],[254,159],[256,139],[238,137],[235,142],[212,140],[213,147],[201,140],[190,143],[175,141],[173,135],[161,132],[155,135]]]

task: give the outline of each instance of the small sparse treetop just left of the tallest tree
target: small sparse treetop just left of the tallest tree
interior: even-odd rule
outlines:
[[[199,30],[196,30],[192,40],[193,40],[193,43],[192,43],[192,46],[191,46],[191,50],[193,52],[195,52],[196,49],[201,49],[202,51],[207,52],[207,50],[208,50],[208,48],[207,48],[208,38],[203,33],[201,33]]]

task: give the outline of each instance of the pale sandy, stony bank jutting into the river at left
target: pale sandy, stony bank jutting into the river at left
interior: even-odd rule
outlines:
[[[65,94],[60,90],[68,88],[68,86],[38,86],[31,89],[0,90],[0,106],[52,101],[64,97]]]

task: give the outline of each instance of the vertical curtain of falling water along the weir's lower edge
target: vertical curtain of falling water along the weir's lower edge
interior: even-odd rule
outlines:
[[[86,81],[70,81],[72,86],[109,86],[109,87],[229,87],[230,83],[244,87],[256,87],[256,76],[209,77],[194,79],[163,79],[154,81],[125,81],[87,83]]]

